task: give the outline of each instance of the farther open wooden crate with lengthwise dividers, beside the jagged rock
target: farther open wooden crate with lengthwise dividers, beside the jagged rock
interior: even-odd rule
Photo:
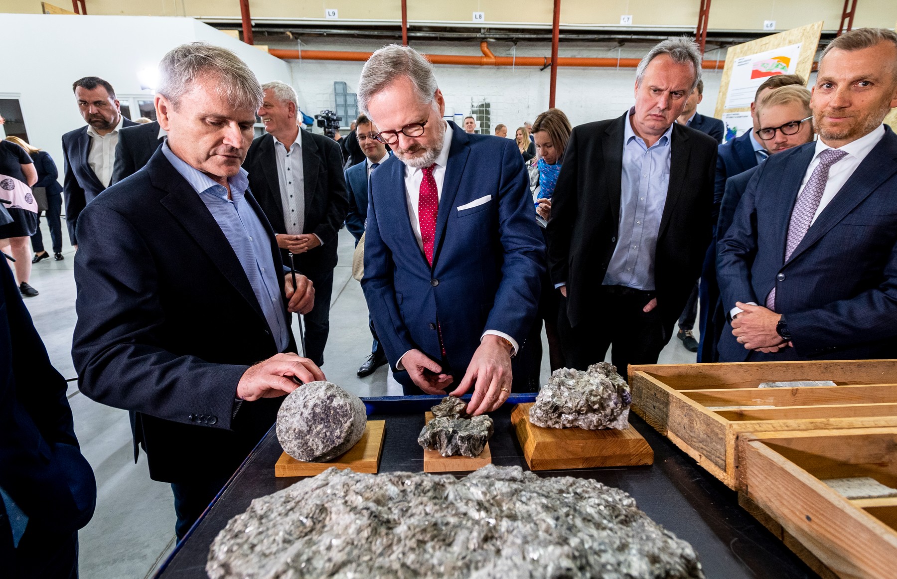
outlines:
[[[760,388],[832,380],[834,386]],[[632,410],[737,489],[748,432],[897,427],[897,360],[630,366]]]

